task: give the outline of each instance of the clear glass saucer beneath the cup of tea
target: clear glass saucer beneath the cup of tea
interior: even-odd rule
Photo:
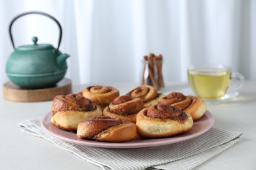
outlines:
[[[181,93],[184,93],[184,95],[195,95],[190,88],[185,88],[180,91]],[[224,101],[228,101],[230,99],[234,99],[238,97],[238,92],[227,92],[223,97],[218,99],[203,99],[207,104],[217,104],[217,103],[223,103]]]

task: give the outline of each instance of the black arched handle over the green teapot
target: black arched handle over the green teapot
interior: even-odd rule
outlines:
[[[10,35],[10,38],[11,38],[11,42],[12,42],[13,48],[15,49],[14,41],[13,41],[13,38],[12,38],[12,24],[14,23],[15,20],[17,20],[21,16],[25,16],[25,15],[28,15],[28,14],[41,14],[43,16],[47,16],[47,17],[51,18],[52,20],[54,20],[54,22],[56,22],[56,24],[58,25],[58,28],[60,29],[60,35],[59,35],[59,38],[58,38],[58,47],[56,48],[56,51],[58,51],[58,48],[60,48],[60,42],[61,42],[61,39],[62,39],[62,28],[61,28],[61,25],[58,22],[58,20],[56,20],[53,16],[51,16],[51,15],[45,13],[45,12],[39,12],[39,11],[24,12],[24,13],[19,14],[18,16],[16,16],[15,18],[12,19],[12,21],[11,21],[11,23],[9,25],[9,35]]]

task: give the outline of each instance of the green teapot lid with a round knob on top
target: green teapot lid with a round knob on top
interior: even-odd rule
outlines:
[[[37,37],[32,37],[33,44],[18,46],[17,50],[47,50],[53,49],[51,44],[37,44]]]

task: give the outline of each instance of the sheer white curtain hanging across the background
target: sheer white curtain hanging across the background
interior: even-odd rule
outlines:
[[[14,50],[8,29],[15,16],[37,10],[63,29],[60,51],[70,54],[73,84],[140,82],[142,58],[164,58],[165,82],[186,81],[192,63],[222,63],[256,79],[255,0],[0,0],[0,82]],[[16,46],[57,46],[58,27],[44,16],[23,16],[12,25]]]

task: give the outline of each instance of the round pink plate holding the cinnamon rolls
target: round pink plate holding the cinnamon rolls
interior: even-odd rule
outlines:
[[[59,129],[51,123],[51,113],[46,114],[41,122],[41,127],[43,131],[74,144],[82,144],[86,146],[95,146],[101,148],[144,148],[152,146],[162,146],[165,144],[179,143],[181,141],[186,141],[194,137],[198,137],[211,129],[214,124],[214,118],[212,114],[207,111],[205,115],[198,121],[194,122],[193,127],[186,133],[180,135],[175,135],[173,137],[160,138],[160,139],[141,139],[136,137],[133,141],[126,143],[108,143],[100,141],[91,141],[89,139],[79,139],[77,135],[72,131],[65,131]]]

